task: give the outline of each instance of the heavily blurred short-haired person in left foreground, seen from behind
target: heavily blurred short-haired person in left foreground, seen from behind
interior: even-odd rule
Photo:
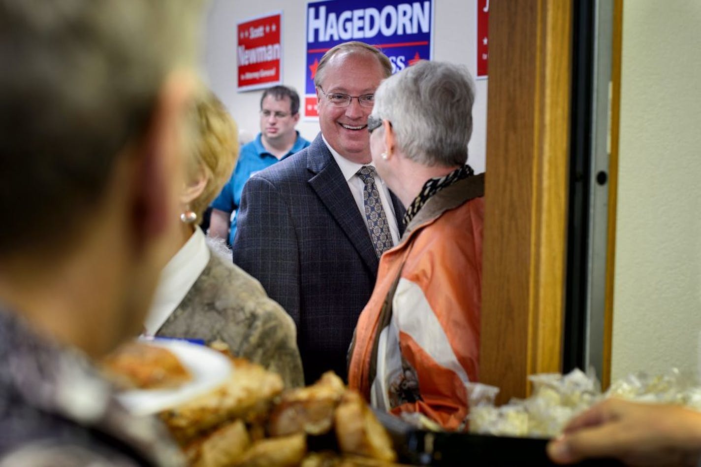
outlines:
[[[177,245],[197,4],[0,0],[1,466],[179,465],[90,360]]]

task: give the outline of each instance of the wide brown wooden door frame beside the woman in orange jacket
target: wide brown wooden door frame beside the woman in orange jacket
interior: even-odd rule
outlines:
[[[562,366],[571,16],[567,0],[490,5],[479,379],[498,402]]]

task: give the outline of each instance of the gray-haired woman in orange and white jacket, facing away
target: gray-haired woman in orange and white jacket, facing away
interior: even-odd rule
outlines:
[[[465,164],[474,85],[463,67],[418,62],[374,98],[372,159],[407,208],[406,229],[381,258],[348,381],[374,407],[462,430],[477,380],[482,281],[484,175]]]

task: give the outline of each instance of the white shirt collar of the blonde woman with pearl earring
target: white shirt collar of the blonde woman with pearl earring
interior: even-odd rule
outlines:
[[[195,233],[161,271],[154,302],[144,320],[145,335],[153,336],[158,332],[209,261],[210,249],[207,248],[205,234],[199,226],[195,226]]]

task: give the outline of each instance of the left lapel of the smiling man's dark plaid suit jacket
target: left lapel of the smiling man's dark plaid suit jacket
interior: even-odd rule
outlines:
[[[334,161],[334,156],[321,139],[321,134],[309,147],[307,168],[314,174],[309,179],[312,189],[346,233],[363,262],[376,276],[379,261],[367,233],[367,227],[360,217],[351,189],[348,188],[341,169]]]

